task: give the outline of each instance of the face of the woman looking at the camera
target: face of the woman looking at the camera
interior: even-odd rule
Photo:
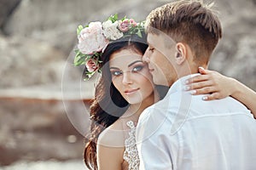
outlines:
[[[142,57],[135,50],[123,49],[113,53],[109,60],[113,85],[131,105],[154,98],[152,76]]]

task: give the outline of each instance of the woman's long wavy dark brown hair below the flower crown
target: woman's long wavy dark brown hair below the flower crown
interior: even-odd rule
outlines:
[[[96,143],[102,131],[119,119],[128,109],[128,102],[122,97],[119,91],[113,86],[108,61],[114,52],[131,48],[142,54],[148,48],[146,35],[143,38],[137,35],[123,37],[108,44],[102,54],[102,76],[96,85],[95,98],[90,106],[90,136],[84,149],[84,162],[86,167],[92,170],[97,169]]]

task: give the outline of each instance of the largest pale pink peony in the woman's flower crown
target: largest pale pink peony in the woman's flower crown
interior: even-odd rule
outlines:
[[[90,22],[89,27],[80,31],[78,39],[78,48],[83,54],[100,52],[108,44],[108,39],[103,35],[101,22]]]

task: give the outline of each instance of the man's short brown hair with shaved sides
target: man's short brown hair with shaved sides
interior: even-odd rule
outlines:
[[[179,0],[155,8],[146,19],[148,33],[163,31],[175,42],[184,42],[195,53],[195,59],[208,62],[222,28],[218,16],[212,9],[213,3],[204,4],[201,0]]]

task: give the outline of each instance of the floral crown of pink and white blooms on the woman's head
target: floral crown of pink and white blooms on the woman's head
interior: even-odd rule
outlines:
[[[90,22],[88,26],[78,26],[78,49],[75,49],[73,64],[85,65],[86,78],[90,79],[96,72],[101,72],[101,57],[109,42],[137,34],[143,37],[144,22],[137,23],[126,17],[119,20],[118,14],[111,15],[104,22]]]

